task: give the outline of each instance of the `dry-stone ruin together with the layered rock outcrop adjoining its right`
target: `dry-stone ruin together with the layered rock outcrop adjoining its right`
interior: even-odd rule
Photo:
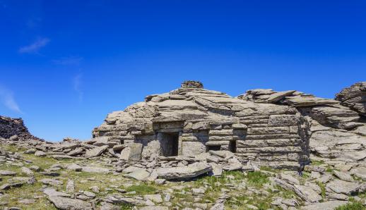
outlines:
[[[90,144],[107,142],[125,161],[231,152],[244,165],[297,169],[309,159],[364,161],[366,82],[336,100],[295,90],[251,89],[238,97],[186,81],[108,114]]]

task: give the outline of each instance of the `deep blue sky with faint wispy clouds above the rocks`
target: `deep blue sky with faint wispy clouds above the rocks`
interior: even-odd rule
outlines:
[[[366,80],[365,1],[0,0],[0,115],[46,140],[183,80],[333,98]]]

